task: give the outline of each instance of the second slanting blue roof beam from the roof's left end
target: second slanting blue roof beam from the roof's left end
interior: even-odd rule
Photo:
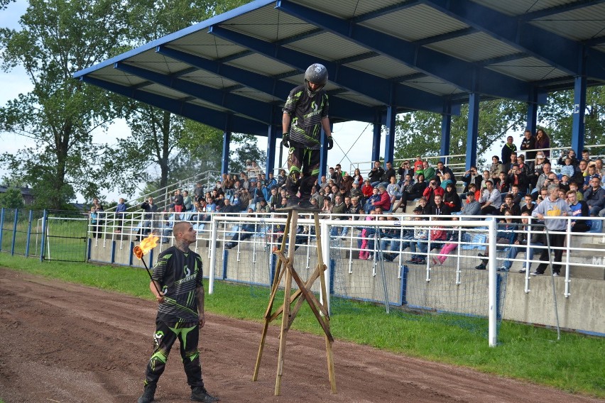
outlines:
[[[266,102],[255,101],[246,96],[224,92],[220,89],[197,84],[185,79],[170,77],[166,74],[160,74],[151,70],[142,69],[141,67],[127,65],[122,62],[116,62],[114,68],[163,85],[164,87],[175,89],[183,94],[194,96],[198,99],[204,99],[210,104],[229,109],[236,114],[249,116],[257,121],[267,121],[271,124],[278,124],[281,121],[281,116],[276,116],[271,104],[267,104]]]

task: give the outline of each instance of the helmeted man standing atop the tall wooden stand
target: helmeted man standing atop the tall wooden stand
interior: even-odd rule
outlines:
[[[282,143],[290,149],[290,174],[286,180],[290,206],[312,207],[309,199],[311,187],[320,171],[321,128],[327,136],[326,148],[331,150],[334,145],[328,118],[328,96],[324,88],[327,79],[325,66],[318,63],[310,65],[305,72],[304,84],[290,91],[283,106]],[[299,191],[300,199],[297,196]]]

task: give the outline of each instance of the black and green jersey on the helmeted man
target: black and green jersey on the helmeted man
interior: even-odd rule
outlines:
[[[312,150],[321,148],[322,118],[328,116],[328,96],[324,89],[310,96],[306,84],[290,91],[282,111],[290,115],[290,143]]]

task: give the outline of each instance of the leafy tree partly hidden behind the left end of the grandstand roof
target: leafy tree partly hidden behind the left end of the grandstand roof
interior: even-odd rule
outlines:
[[[148,43],[246,2],[133,0],[128,13],[129,42]],[[204,170],[219,170],[220,131],[140,102],[129,105],[126,121],[131,136],[107,150],[103,171],[122,191],[133,189],[132,177],[152,180],[161,188]],[[148,174],[149,167],[157,167],[159,177]]]

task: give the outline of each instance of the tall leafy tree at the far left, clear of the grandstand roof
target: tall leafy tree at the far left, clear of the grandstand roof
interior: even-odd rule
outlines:
[[[92,131],[116,115],[114,96],[72,74],[101,62],[124,38],[124,9],[114,0],[30,0],[21,31],[0,28],[1,68],[21,65],[33,90],[0,108],[0,130],[32,138],[35,147],[0,160],[33,187],[38,204],[64,208],[82,192],[107,185],[97,175],[102,146]]]

